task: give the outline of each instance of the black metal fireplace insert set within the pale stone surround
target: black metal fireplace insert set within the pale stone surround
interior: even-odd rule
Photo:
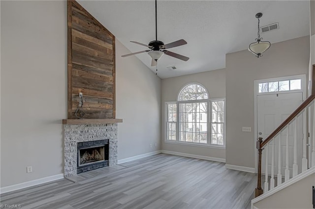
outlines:
[[[77,173],[108,166],[108,139],[77,143]]]

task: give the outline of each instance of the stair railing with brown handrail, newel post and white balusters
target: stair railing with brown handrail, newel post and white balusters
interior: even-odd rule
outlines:
[[[273,131],[265,140],[262,140],[261,137],[258,138],[256,142],[256,148],[258,150],[258,178],[257,178],[257,187],[255,188],[255,197],[261,195],[270,189],[283,183],[283,173],[284,173],[284,182],[288,181],[290,177],[295,177],[298,175],[298,172],[303,172],[309,167],[315,166],[315,65],[313,65],[313,77],[312,77],[312,95],[309,96],[284,122]],[[308,115],[312,112],[311,108],[314,107],[313,115]],[[307,120],[312,120],[313,127],[307,130]],[[298,159],[298,121],[302,121],[302,136],[303,142],[302,149],[303,155],[302,159]],[[293,164],[292,167],[289,167],[289,134],[290,129],[293,128]],[[292,130],[291,130],[292,132]],[[311,133],[309,138],[309,144],[307,144],[308,132]],[[282,135],[285,136],[285,155],[282,155]],[[300,141],[299,141],[300,142]],[[307,157],[307,149],[309,148],[309,160]],[[278,150],[276,150],[278,148]],[[263,152],[264,151],[264,152]],[[268,152],[271,152],[271,159],[269,159]],[[262,154],[264,154],[264,188],[261,187],[262,180]],[[290,153],[291,154],[291,153]],[[291,154],[292,155],[292,154]],[[282,160],[285,156],[285,169],[284,172],[282,169]],[[292,156],[291,156],[292,157]],[[275,174],[275,158],[278,158],[278,171]],[[268,172],[269,164],[271,160],[271,169]],[[298,161],[299,160],[299,161]],[[309,162],[310,161],[310,162]],[[301,163],[300,163],[301,162]],[[299,168],[301,166],[301,168]],[[292,171],[290,172],[290,169]],[[276,178],[275,178],[276,177]]]

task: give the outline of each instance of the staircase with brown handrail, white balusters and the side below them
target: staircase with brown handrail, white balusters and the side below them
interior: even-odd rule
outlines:
[[[280,191],[289,191],[290,187],[294,187],[294,184],[296,186],[300,181],[301,185],[302,181],[308,181],[310,189],[308,186],[305,188],[309,191],[305,191],[308,194],[305,193],[304,196],[309,199],[312,196],[312,185],[315,184],[315,66],[312,73],[312,95],[266,139],[259,137],[257,140],[258,178],[255,198],[252,200],[253,209],[257,209],[258,205],[261,207],[264,199]],[[293,141],[289,140],[291,138]],[[293,145],[290,146],[293,150],[289,149],[289,145]],[[286,199],[290,198],[297,200],[286,196]],[[307,208],[312,208],[312,198],[308,206]],[[275,207],[274,205],[271,208]]]

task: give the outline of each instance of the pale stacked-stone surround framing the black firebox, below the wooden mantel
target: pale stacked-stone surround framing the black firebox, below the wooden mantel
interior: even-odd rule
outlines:
[[[64,176],[77,175],[78,142],[109,139],[108,165],[116,165],[118,161],[117,127],[117,123],[64,124]]]

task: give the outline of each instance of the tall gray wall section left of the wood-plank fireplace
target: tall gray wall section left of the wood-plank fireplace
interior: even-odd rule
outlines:
[[[66,18],[65,1],[1,1],[1,187],[63,173]]]

